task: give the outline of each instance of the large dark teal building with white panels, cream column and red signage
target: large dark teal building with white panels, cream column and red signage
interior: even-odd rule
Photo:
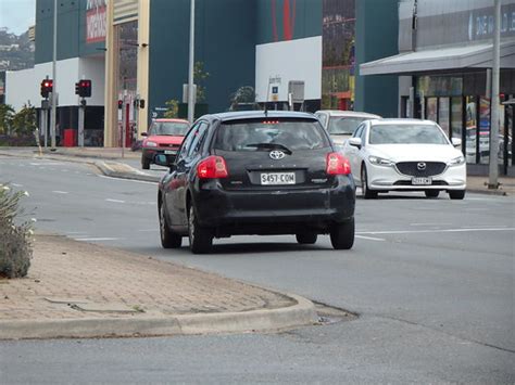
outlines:
[[[289,108],[294,88],[297,110],[360,106],[394,116],[398,84],[379,85],[381,94],[364,92],[369,85],[355,70],[379,48],[397,50],[397,39],[367,36],[397,27],[397,12],[377,12],[388,5],[394,9],[397,0],[196,0],[196,111],[227,111],[231,95],[250,86],[255,102],[273,108]],[[190,0],[60,0],[58,136],[77,130],[79,79],[92,81],[86,145],[129,146],[171,102],[181,104],[189,12]],[[39,84],[52,74],[53,15],[53,0],[37,0],[35,68],[7,75],[7,103],[15,108],[27,100],[41,105]],[[365,17],[374,29],[360,27]]]

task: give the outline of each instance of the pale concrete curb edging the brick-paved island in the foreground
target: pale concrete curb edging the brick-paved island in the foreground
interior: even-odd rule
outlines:
[[[0,339],[131,337],[246,333],[316,324],[314,304],[288,294],[297,305],[244,312],[101,319],[0,321]]]

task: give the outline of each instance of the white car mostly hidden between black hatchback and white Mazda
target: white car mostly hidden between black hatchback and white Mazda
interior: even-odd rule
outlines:
[[[380,119],[379,115],[357,111],[321,110],[315,113],[336,145],[342,147],[363,120]]]

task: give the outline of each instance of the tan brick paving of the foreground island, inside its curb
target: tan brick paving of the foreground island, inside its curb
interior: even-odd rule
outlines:
[[[27,278],[0,279],[0,321],[241,312],[292,305],[294,299],[265,288],[59,235],[35,238]],[[88,308],[93,311],[84,310]]]

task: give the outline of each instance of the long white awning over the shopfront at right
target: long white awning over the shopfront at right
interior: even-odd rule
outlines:
[[[515,68],[515,40],[501,43],[501,68]],[[404,52],[360,65],[360,75],[412,74],[441,69],[489,68],[492,43]]]

